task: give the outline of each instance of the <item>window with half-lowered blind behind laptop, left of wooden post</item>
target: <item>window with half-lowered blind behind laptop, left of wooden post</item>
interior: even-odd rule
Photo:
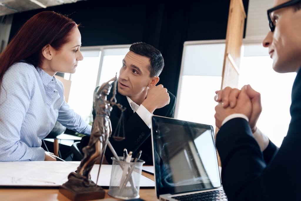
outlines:
[[[213,98],[221,88],[224,54],[224,40],[184,43],[175,118],[215,130]]]

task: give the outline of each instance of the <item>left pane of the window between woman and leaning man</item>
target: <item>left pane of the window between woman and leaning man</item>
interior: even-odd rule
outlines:
[[[76,72],[71,75],[69,105],[76,113],[89,123],[93,106],[93,92],[96,85],[100,62],[100,51],[82,51],[84,60],[79,61]]]

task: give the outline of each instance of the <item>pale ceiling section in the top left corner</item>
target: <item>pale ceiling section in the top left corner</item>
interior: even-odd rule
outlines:
[[[0,16],[78,1],[82,0],[0,0]]]

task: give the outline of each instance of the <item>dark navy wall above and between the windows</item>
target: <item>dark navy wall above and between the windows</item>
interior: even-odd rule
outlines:
[[[243,0],[248,11],[249,0]],[[160,83],[176,95],[183,43],[225,39],[230,0],[214,1],[99,1],[14,14],[10,39],[34,14],[44,10],[69,15],[80,23],[82,46],[146,42],[158,48],[165,68]]]

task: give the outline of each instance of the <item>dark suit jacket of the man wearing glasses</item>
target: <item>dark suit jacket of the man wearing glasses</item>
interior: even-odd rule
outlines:
[[[229,200],[301,200],[300,71],[293,84],[290,115],[281,147],[278,149],[270,142],[263,153],[245,119],[231,119],[220,128],[216,146],[222,162],[222,184]]]

